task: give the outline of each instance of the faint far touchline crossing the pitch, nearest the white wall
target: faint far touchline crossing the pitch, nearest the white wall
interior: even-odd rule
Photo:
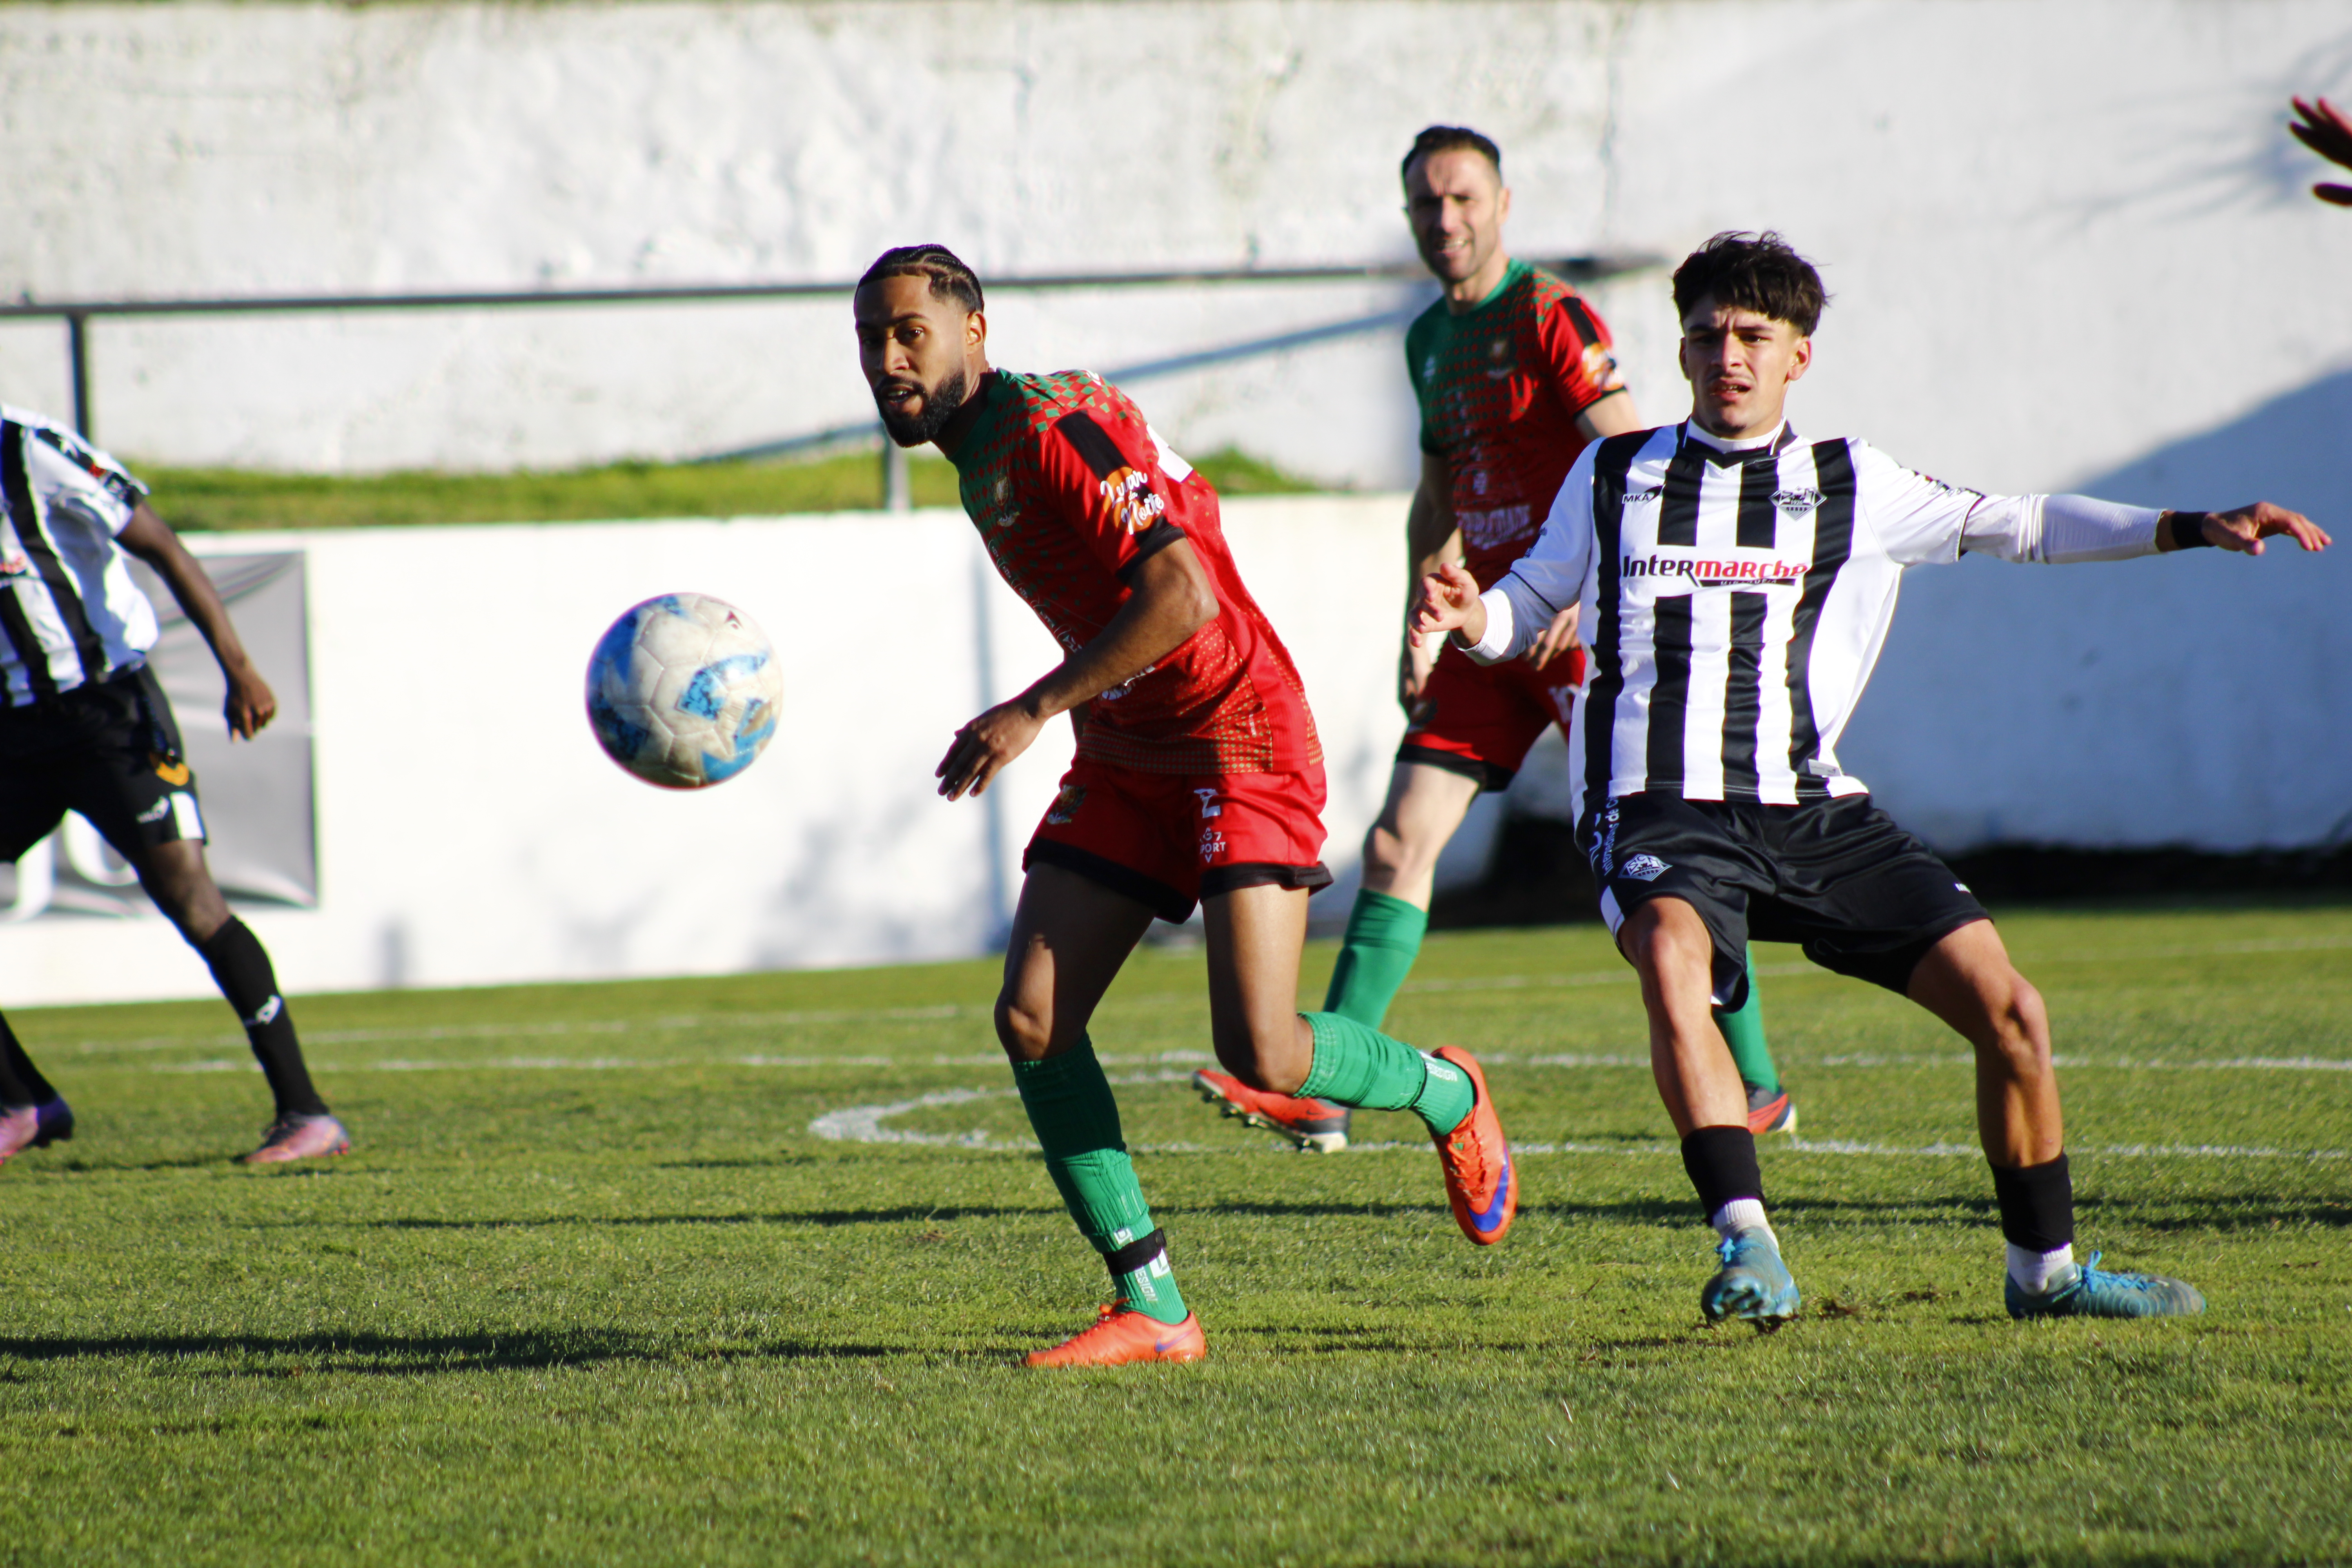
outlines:
[[[2044,952],[2030,966],[2042,964],[2136,964],[2157,959],[2232,957],[2246,952],[2328,952],[2352,947],[2352,936],[2279,936],[2246,943],[2211,943],[2206,947],[2136,947],[2126,952]],[[1757,964],[1766,978],[1825,976],[1816,964]],[[1446,992],[1491,990],[1581,990],[1588,985],[1630,985],[1632,969],[1599,969],[1571,976],[1479,976],[1468,980],[1406,980],[1404,994],[1439,997]],[[1105,1009],[1145,1009],[1167,1004],[1204,1004],[1200,992],[1145,992],[1138,997],[1110,997]],[[541,1039],[567,1034],[663,1034],[684,1030],[790,1030],[814,1023],[931,1023],[943,1018],[985,1018],[990,1006],[882,1006],[882,1009],[816,1009],[790,1013],[675,1013],[666,1018],[579,1018],[548,1023],[449,1023],[421,1030],[313,1030],[303,1041],[313,1046],[369,1046],[393,1041],[435,1039]],[[139,1051],[174,1051],[183,1046],[242,1046],[240,1034],[153,1034],[146,1039],[85,1039],[47,1051],[75,1051],[80,1056],[129,1056]],[[1646,1060],[1646,1058],[1644,1058]]]

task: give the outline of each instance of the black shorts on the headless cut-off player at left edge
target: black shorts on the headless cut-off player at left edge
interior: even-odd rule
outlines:
[[[80,811],[122,858],[205,839],[195,773],[153,670],[0,708],[0,860]]]

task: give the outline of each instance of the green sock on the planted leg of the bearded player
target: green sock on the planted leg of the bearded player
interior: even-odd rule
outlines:
[[[1061,1056],[1014,1063],[1014,1086],[1044,1150],[1047,1175],[1077,1229],[1110,1262],[1120,1300],[1162,1324],[1181,1324],[1183,1295],[1169,1274],[1167,1246],[1152,1227],[1136,1168],[1127,1161],[1120,1103],[1094,1060],[1094,1041],[1080,1037]]]

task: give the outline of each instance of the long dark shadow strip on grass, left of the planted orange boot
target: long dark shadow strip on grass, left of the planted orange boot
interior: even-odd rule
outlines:
[[[127,1335],[0,1335],[0,1359],[73,1361],[80,1356],[270,1356],[299,1366],[261,1366],[256,1375],[379,1373],[426,1375],[461,1371],[541,1371],[609,1361],[870,1361],[889,1345],[818,1345],[771,1340],[743,1347],[687,1347],[635,1333],[127,1333]]]

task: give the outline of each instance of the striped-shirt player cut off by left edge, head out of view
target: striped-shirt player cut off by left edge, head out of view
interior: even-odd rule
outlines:
[[[146,503],[146,487],[73,430],[0,407],[0,860],[89,818],[198,950],[278,1103],[247,1164],[350,1147],[301,1060],[270,954],[205,867],[205,818],[172,703],[146,665],[155,607],[127,555],[155,574],[212,644],[228,733],[247,741],[278,698],[245,656],[212,578]],[[73,1138],[73,1110],[0,1018],[0,1164]]]

